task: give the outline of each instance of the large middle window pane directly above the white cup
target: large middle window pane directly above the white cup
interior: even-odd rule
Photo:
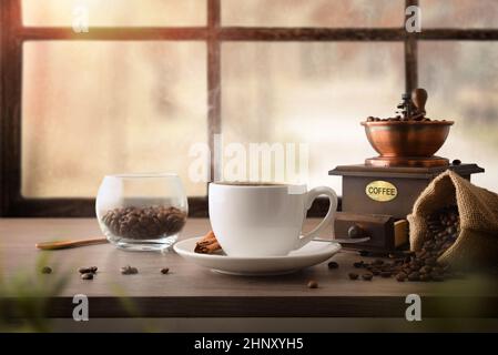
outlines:
[[[306,143],[309,184],[341,191],[327,172],[376,155],[359,122],[394,114],[403,55],[402,43],[223,43],[223,144]]]

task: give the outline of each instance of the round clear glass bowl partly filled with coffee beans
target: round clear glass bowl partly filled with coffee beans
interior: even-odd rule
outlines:
[[[164,251],[176,242],[189,206],[176,174],[118,174],[103,179],[95,212],[102,232],[118,247]]]

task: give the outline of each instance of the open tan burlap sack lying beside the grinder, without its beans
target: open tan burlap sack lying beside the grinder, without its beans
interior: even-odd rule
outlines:
[[[408,215],[410,248],[420,250],[428,236],[425,217],[448,205],[458,206],[460,234],[438,261],[457,267],[497,265],[498,195],[453,171],[434,179],[415,202]]]

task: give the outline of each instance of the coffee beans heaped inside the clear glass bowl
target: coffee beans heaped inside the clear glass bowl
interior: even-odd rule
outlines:
[[[130,206],[108,211],[102,222],[116,236],[150,240],[179,233],[186,213],[173,206]]]

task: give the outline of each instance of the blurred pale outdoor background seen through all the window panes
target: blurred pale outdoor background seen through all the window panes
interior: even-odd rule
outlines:
[[[202,27],[205,0],[22,0],[24,26]],[[400,28],[404,0],[222,0],[222,26]],[[425,28],[497,28],[496,0],[420,0]],[[23,44],[22,194],[91,197],[104,174],[175,171],[190,196],[192,144],[207,142],[204,41],[28,41]],[[376,155],[359,122],[390,116],[405,90],[403,41],[223,42],[224,143],[309,144],[309,184],[341,191],[338,164]],[[498,43],[420,41],[428,116],[456,121],[438,153],[498,180]]]

